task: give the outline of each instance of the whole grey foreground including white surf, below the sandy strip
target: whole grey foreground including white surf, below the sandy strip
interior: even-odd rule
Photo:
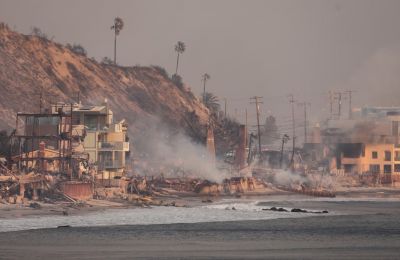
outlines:
[[[77,215],[70,227],[51,226],[57,223],[50,219],[45,222],[51,228],[0,232],[0,258],[398,259],[398,193],[365,192],[334,199],[276,195],[193,207],[110,209]],[[270,207],[329,213],[263,210]]]

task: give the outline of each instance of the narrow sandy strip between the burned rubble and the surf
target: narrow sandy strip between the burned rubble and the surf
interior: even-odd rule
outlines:
[[[166,196],[154,197],[154,201],[162,204],[148,204],[137,205],[134,202],[112,199],[90,199],[83,203],[70,203],[70,202],[55,202],[43,203],[38,201],[27,201],[24,204],[0,204],[0,221],[2,219],[13,218],[29,218],[40,216],[75,216],[84,215],[88,213],[101,212],[108,209],[130,209],[130,208],[143,208],[152,206],[165,206],[165,207],[196,207],[203,205],[210,205],[218,203],[224,199],[232,200],[257,200],[257,199],[301,199],[301,200],[326,200],[335,201],[337,199],[378,199],[378,200],[400,200],[400,189],[388,187],[352,187],[337,190],[336,198],[324,198],[306,196],[292,192],[269,190],[267,192],[248,192],[241,194],[240,197],[235,195],[201,195],[201,194],[170,194]],[[279,201],[279,200],[278,200]],[[37,208],[30,207],[29,205],[39,205]]]

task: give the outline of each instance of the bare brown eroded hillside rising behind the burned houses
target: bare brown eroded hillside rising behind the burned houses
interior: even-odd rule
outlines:
[[[17,111],[39,111],[43,88],[44,106],[57,101],[103,103],[107,98],[114,117],[125,118],[130,133],[155,124],[204,136],[207,109],[188,90],[177,87],[153,67],[104,65],[65,46],[11,31],[0,24],[0,129],[15,127]]]

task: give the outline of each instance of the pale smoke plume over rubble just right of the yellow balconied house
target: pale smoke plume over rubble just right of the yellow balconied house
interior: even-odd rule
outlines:
[[[148,129],[137,142],[141,175],[164,175],[165,177],[193,177],[221,183],[228,174],[218,170],[213,156],[205,145],[195,143],[179,130],[158,126]],[[143,165],[140,164],[143,163]]]

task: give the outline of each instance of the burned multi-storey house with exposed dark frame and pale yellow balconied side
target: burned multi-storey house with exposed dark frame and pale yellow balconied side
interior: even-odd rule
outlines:
[[[21,124],[19,127],[18,124]],[[127,124],[115,123],[107,104],[57,103],[44,113],[17,113],[14,161],[19,168],[81,174],[80,163],[96,166],[102,177],[122,176],[129,152]],[[57,165],[57,167],[54,167]]]

